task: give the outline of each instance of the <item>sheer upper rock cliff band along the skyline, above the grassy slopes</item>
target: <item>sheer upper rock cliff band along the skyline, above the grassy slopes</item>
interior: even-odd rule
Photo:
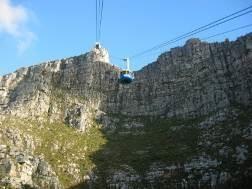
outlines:
[[[192,39],[136,71],[132,84],[122,85],[107,50],[94,47],[1,77],[0,110],[46,113],[53,109],[50,94],[56,89],[97,102],[96,109],[131,116],[198,116],[234,103],[246,106],[252,99],[251,51],[251,34],[212,44]]]

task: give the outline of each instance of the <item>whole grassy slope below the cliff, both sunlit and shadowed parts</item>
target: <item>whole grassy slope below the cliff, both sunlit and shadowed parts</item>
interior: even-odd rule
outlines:
[[[5,119],[1,127],[17,128],[21,135],[28,134],[36,139],[35,154],[43,155],[62,185],[69,187],[74,184],[74,178],[66,169],[71,163],[79,165],[82,176],[94,167],[102,174],[123,164],[132,166],[141,174],[154,161],[177,162],[195,153],[196,128],[182,126],[183,129],[178,127],[172,131],[174,122],[148,123],[141,129],[142,134],[136,134],[139,129],[133,129],[127,135],[119,134],[125,130],[120,127],[115,133],[107,134],[95,124],[87,134],[82,134],[62,123],[41,123],[13,117]]]

